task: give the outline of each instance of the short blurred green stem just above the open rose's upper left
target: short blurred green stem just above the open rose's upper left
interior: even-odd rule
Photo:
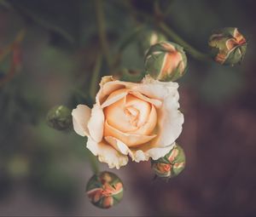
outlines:
[[[102,68],[102,52],[100,52],[100,54],[98,54],[97,56],[96,64],[94,66],[92,77],[90,79],[90,98],[92,100],[95,99],[95,96],[96,96],[101,68]]]

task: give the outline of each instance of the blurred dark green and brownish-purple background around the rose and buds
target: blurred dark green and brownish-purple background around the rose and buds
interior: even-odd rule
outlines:
[[[247,54],[234,67],[189,56],[178,80],[185,170],[165,183],[152,182],[150,163],[112,169],[125,196],[102,210],[85,195],[92,172],[84,138],[49,128],[45,119],[55,105],[92,103],[90,79],[101,49],[95,1],[0,1],[0,215],[256,214],[255,1],[103,1],[108,52],[118,55],[118,69],[143,70],[137,28],[157,30],[155,2],[166,10],[166,24],[195,48],[207,52],[212,30],[236,26]],[[26,33],[17,43],[20,31]],[[112,74],[106,60],[100,73]]]

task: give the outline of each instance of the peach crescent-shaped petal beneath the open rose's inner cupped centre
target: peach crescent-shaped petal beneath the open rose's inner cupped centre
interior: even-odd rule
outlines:
[[[156,136],[156,134],[153,134],[153,135],[125,134],[119,131],[118,129],[110,126],[108,122],[105,122],[104,135],[113,136],[114,138],[117,138],[118,140],[121,140],[122,142],[124,142],[125,145],[129,147],[138,146],[143,143],[146,143],[149,140],[154,139],[154,137]]]

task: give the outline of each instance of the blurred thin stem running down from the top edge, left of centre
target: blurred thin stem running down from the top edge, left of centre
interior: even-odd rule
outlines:
[[[98,34],[99,34],[99,38],[102,46],[102,51],[107,60],[108,67],[109,69],[111,69],[112,61],[111,61],[111,55],[109,53],[110,49],[109,49],[108,39],[106,34],[102,0],[95,0],[95,9],[96,9],[96,22],[97,22]]]

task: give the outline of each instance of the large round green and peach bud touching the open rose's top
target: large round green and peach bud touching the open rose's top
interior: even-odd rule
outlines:
[[[156,43],[148,49],[144,61],[145,71],[163,82],[182,77],[187,67],[187,56],[177,43]]]

